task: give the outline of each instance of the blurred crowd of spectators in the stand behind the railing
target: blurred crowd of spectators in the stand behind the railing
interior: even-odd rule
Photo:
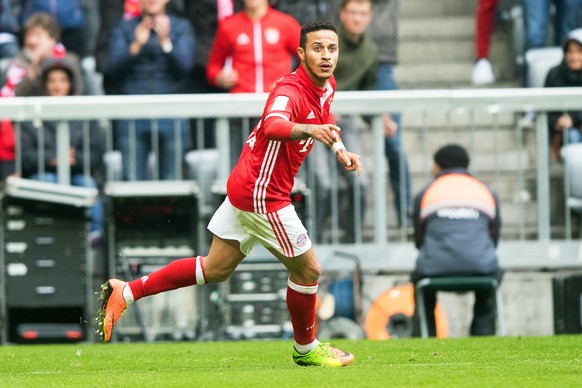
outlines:
[[[495,83],[489,55],[491,36],[502,11],[510,10],[515,24],[519,18],[523,26],[517,51],[524,74],[528,69],[523,53],[546,45],[561,46],[561,70],[553,70],[546,86],[582,86],[578,29],[582,0],[475,1],[473,85]],[[297,65],[301,25],[317,18],[338,24],[342,42],[342,60],[336,71],[338,90],[396,90],[399,13],[399,0],[0,0],[0,96],[268,92]],[[551,119],[553,133],[566,131],[570,142],[580,141],[580,112],[561,112]],[[336,120],[350,143],[348,148],[357,150],[358,131],[369,124],[367,118]],[[15,171],[13,124],[0,121],[2,180]],[[99,126],[70,124],[72,133],[87,125]],[[406,226],[411,222],[412,201],[399,126],[399,115],[387,111],[389,178],[398,223]],[[54,180],[55,127],[54,122],[22,123],[22,140],[16,139],[22,141],[22,154],[40,155],[38,149],[44,147],[44,161],[27,157],[22,164],[24,177]],[[203,123],[204,144],[195,144],[188,118],[117,120],[112,127],[125,180],[180,178],[180,169],[175,167],[187,150],[216,145],[210,118]],[[245,140],[244,127],[243,120],[231,119],[233,163]],[[73,184],[96,184],[81,178],[85,161],[94,164],[94,171],[103,159],[103,131],[91,133],[95,138],[91,139],[94,157],[90,158],[80,157],[86,150],[75,139],[81,136],[71,135]],[[148,167],[152,153],[157,164],[153,174]],[[329,166],[325,160],[319,166],[317,183],[325,192],[330,186],[325,172]],[[365,192],[366,179],[359,184]],[[351,185],[349,180],[345,184]],[[322,211],[318,217],[326,222],[329,214]]]

